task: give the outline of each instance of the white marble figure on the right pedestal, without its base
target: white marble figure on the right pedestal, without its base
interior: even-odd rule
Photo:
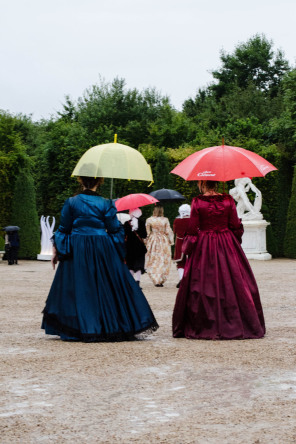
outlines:
[[[247,220],[262,220],[261,213],[262,194],[261,191],[252,183],[249,177],[235,179],[235,187],[229,190],[229,194],[237,201],[237,214],[242,221]],[[253,191],[255,193],[255,200],[252,204],[248,198],[247,193]]]

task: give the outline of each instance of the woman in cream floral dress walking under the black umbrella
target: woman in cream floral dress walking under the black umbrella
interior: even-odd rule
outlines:
[[[163,207],[157,205],[153,215],[146,220],[147,253],[145,268],[156,287],[163,287],[171,267],[171,245],[174,234],[167,217],[163,216]]]

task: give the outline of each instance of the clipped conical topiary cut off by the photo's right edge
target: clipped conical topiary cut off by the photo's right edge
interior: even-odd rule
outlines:
[[[296,259],[296,166],[294,166],[292,193],[287,215],[284,255]]]

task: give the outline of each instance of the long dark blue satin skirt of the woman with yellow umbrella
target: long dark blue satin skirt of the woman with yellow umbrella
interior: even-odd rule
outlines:
[[[65,340],[131,340],[158,328],[150,306],[108,234],[71,235],[43,310],[42,328]]]

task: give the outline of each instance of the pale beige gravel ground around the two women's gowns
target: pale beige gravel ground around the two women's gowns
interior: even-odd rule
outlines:
[[[160,329],[143,341],[45,337],[48,262],[0,262],[1,443],[296,443],[296,261],[251,261],[267,334],[173,339],[177,272],[143,290]]]

